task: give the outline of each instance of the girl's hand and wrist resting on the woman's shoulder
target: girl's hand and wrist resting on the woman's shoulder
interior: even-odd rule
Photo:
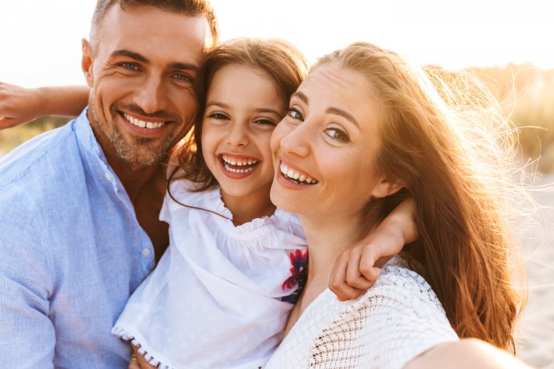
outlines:
[[[374,231],[346,251],[334,264],[329,288],[339,300],[357,298],[377,280],[382,267],[418,238],[413,199],[402,201]]]

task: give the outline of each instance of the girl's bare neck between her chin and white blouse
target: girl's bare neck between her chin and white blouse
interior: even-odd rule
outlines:
[[[271,183],[269,183],[271,186]],[[269,217],[275,213],[275,205],[269,199],[269,186],[260,188],[246,196],[231,196],[221,190],[221,198],[225,207],[233,213],[233,224],[240,226],[241,224],[251,222],[253,219],[261,217]]]

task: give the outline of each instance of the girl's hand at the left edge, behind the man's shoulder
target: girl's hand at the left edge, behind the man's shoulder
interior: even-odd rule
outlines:
[[[0,82],[0,129],[15,127],[38,118],[44,107],[37,89]]]

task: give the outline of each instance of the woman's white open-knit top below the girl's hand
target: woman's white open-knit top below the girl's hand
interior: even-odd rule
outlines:
[[[323,291],[264,369],[402,368],[429,348],[457,340],[429,284],[396,257],[356,300],[341,303]]]

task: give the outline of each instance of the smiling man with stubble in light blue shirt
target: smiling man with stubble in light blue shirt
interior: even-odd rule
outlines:
[[[99,0],[90,38],[89,108],[0,162],[2,368],[127,368],[111,326],[168,245],[163,163],[197,113],[215,15]]]

